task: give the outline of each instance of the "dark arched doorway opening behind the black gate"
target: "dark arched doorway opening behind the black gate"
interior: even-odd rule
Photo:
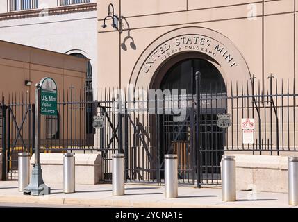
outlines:
[[[220,67],[219,67],[220,69]],[[197,110],[195,73],[201,72],[201,175],[202,180],[220,179],[220,160],[224,153],[224,129],[217,126],[217,114],[226,113],[222,98],[226,86],[216,63],[199,53],[183,53],[160,67],[151,83],[162,90],[185,90],[188,107],[184,121],[174,121],[173,113],[160,114],[160,168],[167,153],[176,153],[179,158],[179,179],[194,181],[197,165],[197,144],[195,141]],[[218,100],[214,99],[218,96]],[[212,101],[208,101],[212,97]],[[206,98],[206,99],[205,99]],[[173,99],[174,100],[174,99]],[[163,171],[160,173],[163,178]]]

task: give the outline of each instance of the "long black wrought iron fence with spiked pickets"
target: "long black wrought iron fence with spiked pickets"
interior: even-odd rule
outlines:
[[[94,101],[84,90],[59,92],[58,116],[42,117],[41,153],[99,153],[106,181],[112,154],[125,153],[128,182],[157,183],[164,179],[164,155],[176,153],[179,182],[197,186],[220,185],[224,153],[296,155],[297,94],[288,81],[197,85],[197,94],[154,98],[149,90],[133,97],[102,89]],[[1,104],[6,179],[17,179],[17,153],[34,153],[33,112],[21,94]],[[93,128],[94,116],[102,117],[101,128]],[[242,126],[247,121],[250,131]]]

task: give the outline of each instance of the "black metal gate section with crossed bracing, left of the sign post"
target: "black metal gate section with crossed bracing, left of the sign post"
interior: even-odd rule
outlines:
[[[26,95],[11,94],[1,104],[1,148],[3,180],[17,180],[18,153],[33,153],[34,104]]]

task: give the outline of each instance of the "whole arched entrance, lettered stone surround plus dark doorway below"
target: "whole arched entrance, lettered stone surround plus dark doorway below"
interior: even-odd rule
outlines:
[[[201,71],[203,75],[200,115],[197,115],[194,107],[197,98],[194,94],[196,71]],[[183,182],[187,180],[188,183],[194,183],[196,176],[201,175],[202,180],[208,178],[208,183],[219,184],[220,160],[226,142],[224,129],[217,127],[217,114],[226,114],[226,92],[231,92],[231,88],[227,88],[224,83],[241,83],[250,78],[247,62],[235,44],[229,37],[209,28],[176,28],[151,42],[135,62],[129,84],[134,89],[186,87],[186,100],[189,103],[186,106],[186,118],[181,123],[173,121],[174,114],[164,114],[161,117],[154,115],[147,121],[149,137],[154,139],[150,139],[148,143],[152,151],[144,151],[148,156],[147,162],[151,163],[150,169],[144,169],[156,169],[157,173],[160,172],[157,175],[160,181],[163,178],[163,155],[175,150],[179,154],[179,176]],[[157,103],[159,104],[158,101]],[[197,119],[200,121],[196,121]],[[196,126],[201,129],[199,142],[196,140]],[[144,144],[144,147],[148,147],[148,144]],[[200,147],[200,158],[197,158],[197,147]],[[196,172],[197,160],[201,160],[201,173]],[[156,162],[159,164],[155,164]]]

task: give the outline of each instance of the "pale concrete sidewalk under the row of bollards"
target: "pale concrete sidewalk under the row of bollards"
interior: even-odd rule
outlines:
[[[293,207],[288,205],[288,194],[280,193],[259,192],[257,200],[248,200],[249,191],[237,191],[237,201],[224,203],[219,188],[179,187],[179,198],[166,199],[164,187],[157,185],[129,184],[124,196],[113,196],[109,184],[77,185],[74,194],[63,194],[63,185],[49,186],[49,196],[26,196],[17,190],[17,181],[0,181],[0,202],[146,208]]]

